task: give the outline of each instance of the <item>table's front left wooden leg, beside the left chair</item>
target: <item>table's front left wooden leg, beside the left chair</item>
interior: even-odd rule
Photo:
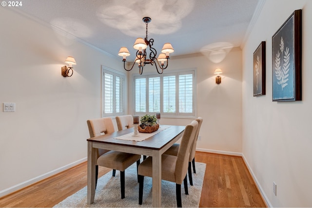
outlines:
[[[88,178],[87,178],[87,204],[94,201],[96,193],[96,149],[92,148],[92,142],[88,141]]]

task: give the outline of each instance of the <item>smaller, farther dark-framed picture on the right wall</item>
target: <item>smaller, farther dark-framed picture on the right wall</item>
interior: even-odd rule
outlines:
[[[254,51],[254,96],[265,95],[265,41]]]

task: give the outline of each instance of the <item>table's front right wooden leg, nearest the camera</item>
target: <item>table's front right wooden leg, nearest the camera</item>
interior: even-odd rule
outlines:
[[[153,150],[153,207],[161,207],[161,154]]]

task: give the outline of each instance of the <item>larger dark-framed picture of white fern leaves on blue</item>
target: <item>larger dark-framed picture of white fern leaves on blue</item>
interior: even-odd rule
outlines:
[[[272,37],[273,101],[302,100],[302,10],[295,10]]]

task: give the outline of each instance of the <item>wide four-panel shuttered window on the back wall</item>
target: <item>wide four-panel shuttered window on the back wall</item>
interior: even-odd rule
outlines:
[[[134,76],[135,114],[195,116],[195,70]]]

